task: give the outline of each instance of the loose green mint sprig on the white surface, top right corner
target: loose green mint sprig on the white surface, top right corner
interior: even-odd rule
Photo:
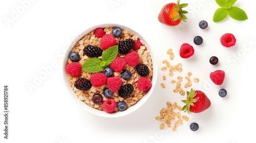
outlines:
[[[237,0],[215,0],[216,3],[222,7],[216,10],[214,13],[214,22],[220,22],[224,20],[228,15],[236,20],[246,20],[248,19],[244,10],[233,7]]]

